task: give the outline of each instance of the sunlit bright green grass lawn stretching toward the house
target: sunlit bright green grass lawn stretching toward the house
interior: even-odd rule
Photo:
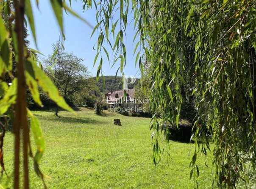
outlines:
[[[76,115],[60,111],[61,118],[53,111],[33,114],[38,117],[46,140],[40,167],[49,189],[194,187],[189,180],[189,151],[193,144],[171,142],[169,158],[164,156],[155,167],[148,118],[107,112],[101,117],[86,108]],[[115,126],[114,118],[120,119],[122,126]],[[13,169],[13,139],[11,133],[4,139],[4,161],[9,175]],[[204,165],[203,156],[198,158],[199,188],[211,188],[211,166]],[[211,155],[208,161],[211,165]],[[32,161],[30,184],[32,189],[43,188]]]

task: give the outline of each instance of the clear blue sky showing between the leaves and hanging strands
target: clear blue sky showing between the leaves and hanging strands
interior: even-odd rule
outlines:
[[[38,50],[47,56],[52,53],[51,44],[55,43],[59,39],[60,28],[55,19],[49,0],[39,1],[39,9],[37,8],[35,1],[31,1],[31,3],[35,19]],[[86,19],[91,25],[96,25],[96,11],[89,9],[88,11],[83,12],[83,5],[81,1],[72,1],[72,10]],[[133,57],[136,43],[133,44],[135,31],[134,22],[131,22],[131,19],[132,17],[128,17],[128,26],[126,30],[127,38],[124,38],[124,44],[127,51],[127,63],[124,68],[124,72],[125,75],[135,75],[136,78],[139,78],[139,68],[138,66],[135,67],[135,57]],[[83,64],[88,67],[89,72],[95,76],[97,73],[99,59],[93,68],[94,58],[97,53],[96,50],[93,49],[93,46],[95,42],[97,42],[98,33],[95,32],[94,36],[91,38],[92,30],[92,28],[80,19],[72,16],[71,14],[67,15],[64,13],[64,33],[66,40],[62,43],[64,44],[65,51],[73,52],[79,58],[83,58]],[[30,47],[36,49],[29,26],[28,34],[28,40],[31,42]],[[116,62],[116,65],[111,68],[114,56],[112,56],[111,48],[108,46],[105,47],[109,52],[110,64],[103,53],[103,75],[115,75],[120,63]],[[117,75],[120,75],[120,71]]]

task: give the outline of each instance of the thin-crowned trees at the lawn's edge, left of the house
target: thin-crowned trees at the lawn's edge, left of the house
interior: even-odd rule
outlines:
[[[95,102],[99,100],[99,96],[93,95],[92,92],[102,95],[95,78],[83,64],[83,59],[66,52],[61,42],[52,44],[52,53],[42,58],[42,67],[53,81],[59,94],[70,106],[94,106]],[[56,107],[56,116],[58,116],[59,108],[56,103],[43,90],[39,90],[39,92],[43,105],[48,109]],[[28,106],[38,108],[30,93],[28,98]]]

